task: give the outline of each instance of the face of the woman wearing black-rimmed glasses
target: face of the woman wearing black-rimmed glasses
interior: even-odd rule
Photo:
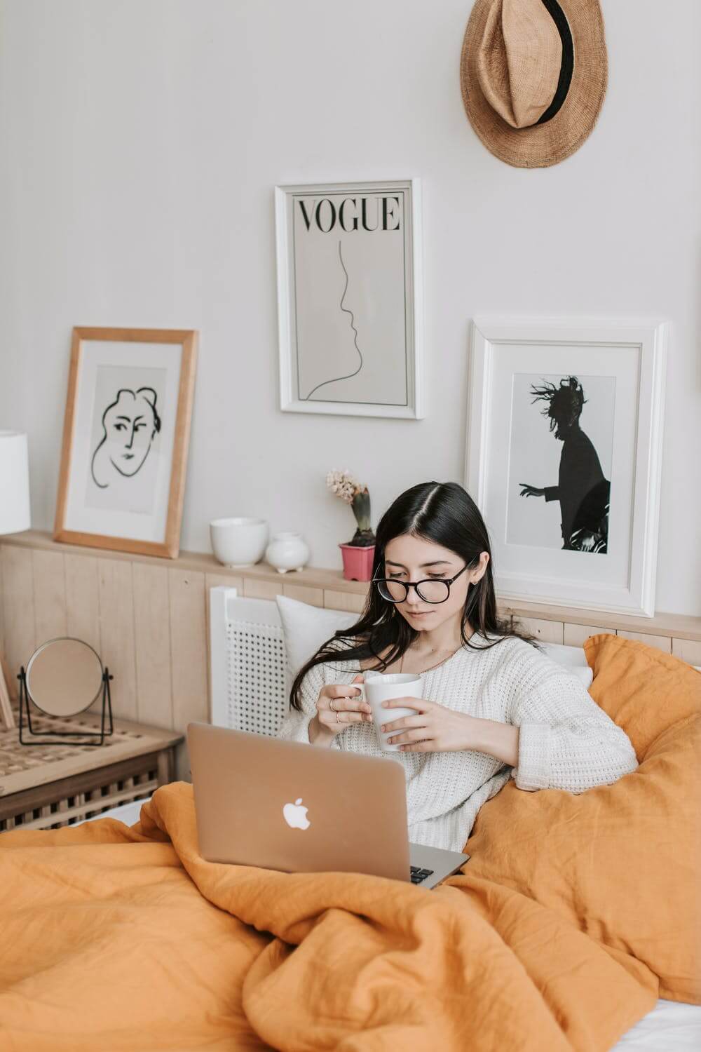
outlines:
[[[409,589],[407,599],[395,606],[415,631],[435,629],[445,621],[461,615],[471,582],[479,581],[487,569],[489,554],[483,551],[479,563],[461,573],[450,586],[445,603],[430,604]],[[465,566],[465,560],[450,548],[432,541],[403,533],[392,538],[385,548],[385,576],[396,581],[440,581],[454,578]]]

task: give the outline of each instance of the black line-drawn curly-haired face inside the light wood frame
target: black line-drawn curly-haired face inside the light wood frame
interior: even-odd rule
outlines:
[[[151,443],[161,430],[156,402],[152,387],[140,387],[136,391],[121,387],[103,412],[103,434],[90,462],[92,481],[100,489],[106,489],[110,481],[115,481],[114,471],[130,479],[143,467]]]

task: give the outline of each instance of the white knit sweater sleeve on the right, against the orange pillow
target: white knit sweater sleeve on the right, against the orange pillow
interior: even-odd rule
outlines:
[[[580,793],[611,785],[638,766],[625,731],[601,709],[577,676],[537,659],[519,684],[511,722],[519,728],[519,789]]]

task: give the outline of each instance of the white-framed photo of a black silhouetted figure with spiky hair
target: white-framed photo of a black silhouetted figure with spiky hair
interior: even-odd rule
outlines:
[[[500,598],[652,616],[666,323],[476,318],[466,485]]]

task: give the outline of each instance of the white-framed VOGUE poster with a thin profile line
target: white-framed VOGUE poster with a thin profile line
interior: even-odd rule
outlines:
[[[281,408],[418,419],[419,182],[275,187]]]

